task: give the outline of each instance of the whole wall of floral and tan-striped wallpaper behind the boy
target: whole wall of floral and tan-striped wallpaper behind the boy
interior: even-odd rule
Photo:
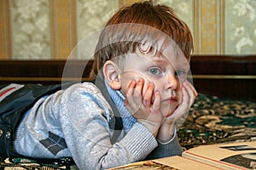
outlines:
[[[0,59],[67,59],[119,7],[134,2],[137,0],[0,0]],[[158,2],[172,6],[189,24],[195,54],[256,53],[255,0]]]

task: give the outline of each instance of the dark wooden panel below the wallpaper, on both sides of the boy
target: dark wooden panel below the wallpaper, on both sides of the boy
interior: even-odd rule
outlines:
[[[63,74],[86,79],[92,63],[86,60],[0,60],[0,84],[59,83]],[[256,55],[192,56],[191,71],[199,93],[256,101]]]

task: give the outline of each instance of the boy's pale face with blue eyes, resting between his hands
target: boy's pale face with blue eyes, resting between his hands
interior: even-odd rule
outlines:
[[[165,56],[148,54],[127,54],[123,71],[119,74],[120,90],[123,94],[132,81],[144,80],[142,95],[146,94],[148,83],[154,84],[154,92],[160,94],[160,112],[170,116],[182,101],[182,83],[187,80],[189,61],[180,51],[166,48]],[[154,101],[154,94],[152,95]]]

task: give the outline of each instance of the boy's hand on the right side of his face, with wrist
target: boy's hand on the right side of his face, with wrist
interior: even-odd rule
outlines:
[[[157,135],[157,139],[159,139],[161,142],[167,142],[172,139],[175,129],[175,122],[189,112],[191,105],[193,105],[195,102],[196,96],[197,92],[193,85],[188,81],[183,82],[182,102],[177,106],[177,109],[172,113],[172,115],[167,116],[163,120]]]

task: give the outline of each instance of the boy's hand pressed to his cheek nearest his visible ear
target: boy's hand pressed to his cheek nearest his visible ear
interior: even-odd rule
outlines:
[[[143,88],[145,88],[144,95]],[[125,106],[131,111],[137,122],[148,127],[156,137],[162,122],[162,115],[160,113],[160,94],[154,93],[154,84],[149,83],[146,87],[143,79],[138,82],[132,81],[125,94]]]

